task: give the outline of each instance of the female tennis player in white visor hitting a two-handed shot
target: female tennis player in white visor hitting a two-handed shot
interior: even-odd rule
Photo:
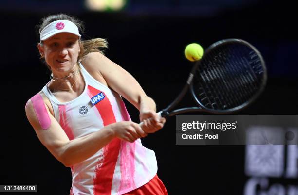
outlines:
[[[102,54],[106,40],[81,40],[74,17],[48,16],[39,27],[38,50],[51,81],[25,110],[40,142],[71,167],[70,195],[167,195],[155,153],[140,141],[165,123],[154,101]],[[121,97],[139,109],[143,128],[131,122]]]

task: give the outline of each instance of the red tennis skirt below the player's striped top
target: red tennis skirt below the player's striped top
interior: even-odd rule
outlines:
[[[154,178],[145,185],[124,195],[168,195],[168,192],[163,182],[155,175]]]

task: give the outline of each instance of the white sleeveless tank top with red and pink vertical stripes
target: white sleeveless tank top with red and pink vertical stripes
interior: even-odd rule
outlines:
[[[56,120],[70,140],[83,137],[119,121],[131,121],[121,96],[95,80],[83,67],[83,93],[61,103],[49,88],[42,91],[49,98]],[[96,104],[92,104],[97,102]],[[151,180],[157,172],[153,150],[118,138],[89,159],[71,167],[73,183],[70,195],[121,195]]]

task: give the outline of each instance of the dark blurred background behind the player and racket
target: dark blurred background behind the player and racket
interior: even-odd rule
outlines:
[[[261,97],[238,114],[296,115],[296,8],[288,0],[1,0],[0,184],[37,184],[40,195],[67,195],[71,187],[70,168],[42,146],[24,112],[26,101],[50,79],[37,52],[36,25],[42,17],[76,16],[85,22],[83,39],[107,38],[106,55],[140,82],[158,110],[174,99],[187,79],[192,65],[184,57],[187,44],[207,48],[225,38],[244,39],[262,53],[269,79]],[[181,106],[191,101],[186,96]],[[126,105],[137,122],[137,110]],[[298,194],[297,176],[265,174],[267,185],[264,180],[258,184],[260,176],[244,171],[246,146],[175,145],[175,118],[142,142],[155,151],[158,175],[169,195]],[[284,147],[280,156],[283,172],[287,151]],[[298,155],[293,155],[297,163]]]

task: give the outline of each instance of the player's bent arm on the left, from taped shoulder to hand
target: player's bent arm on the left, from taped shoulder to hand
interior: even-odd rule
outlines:
[[[84,137],[69,140],[64,130],[49,111],[47,105],[45,105],[45,108],[46,112],[43,114],[48,114],[50,118],[48,129],[42,129],[42,125],[39,122],[40,120],[37,118],[36,108],[34,108],[31,99],[27,102],[25,108],[27,118],[34,128],[40,142],[58,161],[67,167],[88,159],[116,137],[133,142],[147,135],[137,123],[123,121],[108,125]]]

